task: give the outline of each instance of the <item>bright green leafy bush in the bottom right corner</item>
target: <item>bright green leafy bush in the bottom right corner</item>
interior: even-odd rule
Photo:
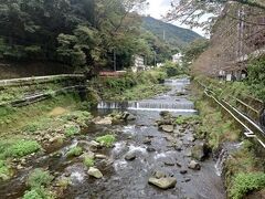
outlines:
[[[241,172],[234,177],[233,186],[229,191],[229,196],[232,199],[243,199],[246,193],[253,190],[259,190],[265,188],[265,174],[253,172],[245,174]]]

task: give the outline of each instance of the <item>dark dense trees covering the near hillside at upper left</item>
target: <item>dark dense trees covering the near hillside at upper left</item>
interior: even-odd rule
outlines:
[[[57,62],[97,72],[131,65],[134,54],[148,64],[170,59],[171,48],[141,28],[145,0],[0,1],[0,59]]]

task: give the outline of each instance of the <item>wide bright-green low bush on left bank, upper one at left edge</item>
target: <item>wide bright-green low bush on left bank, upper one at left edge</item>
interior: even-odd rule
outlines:
[[[35,140],[15,140],[2,148],[3,157],[23,157],[41,149]]]

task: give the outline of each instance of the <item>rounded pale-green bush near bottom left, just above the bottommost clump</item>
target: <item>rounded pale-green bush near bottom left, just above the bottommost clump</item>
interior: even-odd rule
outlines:
[[[26,180],[26,185],[31,188],[47,187],[51,185],[53,176],[49,171],[36,168],[34,169]]]

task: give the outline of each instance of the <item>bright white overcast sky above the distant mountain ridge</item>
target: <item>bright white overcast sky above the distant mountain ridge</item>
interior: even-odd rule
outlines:
[[[170,9],[171,0],[148,0],[150,3],[149,8],[146,11],[146,14],[150,14],[156,19],[161,19],[161,15],[166,14],[167,11]],[[190,29],[187,25],[181,24],[180,22],[171,22],[178,27]],[[193,29],[197,33],[204,35],[204,32],[201,29]]]

